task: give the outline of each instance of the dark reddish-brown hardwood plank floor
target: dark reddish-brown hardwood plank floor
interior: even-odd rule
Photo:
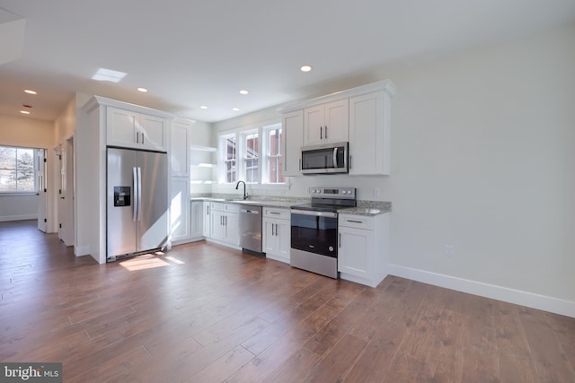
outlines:
[[[97,265],[0,222],[0,361],[66,382],[575,382],[575,319],[204,241]]]

